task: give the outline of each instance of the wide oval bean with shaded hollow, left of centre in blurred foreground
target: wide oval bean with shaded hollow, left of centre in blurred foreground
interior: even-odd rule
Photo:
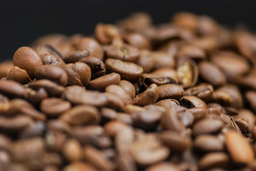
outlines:
[[[99,124],[100,114],[97,108],[92,106],[76,106],[60,115],[60,119],[75,126]]]

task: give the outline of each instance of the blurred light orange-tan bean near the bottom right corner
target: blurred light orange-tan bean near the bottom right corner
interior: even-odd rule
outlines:
[[[254,160],[254,153],[250,143],[236,131],[225,133],[226,145],[232,160],[235,163],[251,163]]]

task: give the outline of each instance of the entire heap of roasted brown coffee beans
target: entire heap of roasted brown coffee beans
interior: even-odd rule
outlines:
[[[256,170],[256,35],[177,13],[51,34],[0,64],[0,170]]]

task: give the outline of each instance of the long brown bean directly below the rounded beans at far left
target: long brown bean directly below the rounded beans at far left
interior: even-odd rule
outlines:
[[[45,89],[45,91],[47,91],[47,93],[50,96],[60,96],[60,94],[63,93],[65,89],[61,85],[58,85],[55,82],[52,82],[50,80],[45,80],[45,79],[37,80],[35,82],[30,82],[28,86],[36,90],[42,87]]]

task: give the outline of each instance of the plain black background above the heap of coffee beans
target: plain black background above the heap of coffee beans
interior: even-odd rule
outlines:
[[[44,34],[92,34],[97,22],[113,23],[133,11],[147,11],[154,23],[168,22],[177,11],[191,11],[226,26],[245,24],[255,30],[255,5],[253,0],[0,0],[0,61]]]

